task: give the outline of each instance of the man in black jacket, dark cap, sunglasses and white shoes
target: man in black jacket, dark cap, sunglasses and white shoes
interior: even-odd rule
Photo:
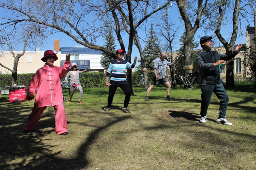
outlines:
[[[229,103],[229,96],[221,83],[219,74],[219,64],[224,63],[225,60],[230,60],[237,55],[242,48],[242,44],[238,44],[234,51],[227,55],[219,54],[217,51],[211,51],[210,36],[203,36],[200,39],[200,44],[203,50],[196,55],[197,65],[200,68],[201,76],[201,120],[200,123],[206,122],[207,109],[210,104],[211,96],[214,94],[220,100],[219,117],[216,122],[224,125],[232,125],[226,119],[227,104]]]

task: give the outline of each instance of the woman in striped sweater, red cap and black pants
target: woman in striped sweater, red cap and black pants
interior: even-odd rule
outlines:
[[[122,59],[124,54],[124,51],[122,49],[117,50],[115,54],[117,56],[116,60],[112,60],[110,62],[106,74],[106,85],[109,86],[109,97],[107,99],[107,107],[104,108],[104,111],[109,111],[111,109],[111,104],[113,102],[115,91],[117,90],[117,87],[120,87],[125,93],[125,102],[122,112],[131,113],[127,108],[130,102],[131,91],[125,78],[125,70],[126,68],[132,69],[135,67],[137,57],[134,57],[134,62],[133,64],[131,64],[128,61]],[[109,82],[109,75],[111,72],[112,74]]]

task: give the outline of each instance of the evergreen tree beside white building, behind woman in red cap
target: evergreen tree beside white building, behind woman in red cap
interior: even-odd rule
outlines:
[[[115,49],[116,45],[114,45],[114,44],[115,44],[115,39],[113,37],[112,32],[110,32],[105,38],[105,45],[103,45],[103,47],[105,47],[105,48],[109,49],[110,51],[112,51],[113,53],[115,53],[116,52],[116,49]],[[102,52],[102,55],[103,56],[101,56],[100,63],[102,65],[102,67],[107,69],[109,67],[110,62],[113,60],[113,58],[111,56],[107,55],[104,52]]]

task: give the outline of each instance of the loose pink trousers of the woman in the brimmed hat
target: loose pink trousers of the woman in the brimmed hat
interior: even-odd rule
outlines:
[[[62,134],[64,132],[67,132],[67,119],[65,114],[65,109],[63,106],[63,103],[59,103],[54,107],[55,110],[55,131],[57,134]],[[24,126],[23,129],[25,130],[32,130],[37,126],[43,111],[47,108],[47,106],[44,107],[34,107],[32,109],[32,112],[29,115],[29,118],[27,120],[27,124]]]

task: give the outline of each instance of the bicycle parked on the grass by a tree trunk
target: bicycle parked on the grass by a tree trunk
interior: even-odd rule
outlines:
[[[197,87],[197,82],[195,81],[195,77],[192,77],[192,73],[189,73],[189,77],[187,78],[183,77],[182,75],[178,75],[175,81],[176,86],[174,88],[182,87],[189,90],[194,90]]]

